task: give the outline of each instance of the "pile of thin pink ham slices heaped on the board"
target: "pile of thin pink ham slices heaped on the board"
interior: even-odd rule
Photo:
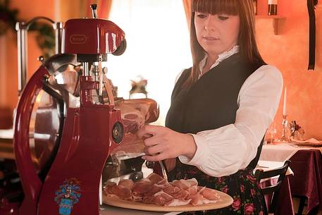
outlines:
[[[216,190],[198,186],[195,178],[169,183],[156,173],[135,183],[130,179],[120,180],[118,184],[108,183],[104,188],[104,195],[163,206],[201,205],[220,201]]]

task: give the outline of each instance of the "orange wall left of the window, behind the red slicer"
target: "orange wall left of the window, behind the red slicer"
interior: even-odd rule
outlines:
[[[93,0],[94,1],[94,0]],[[10,7],[18,9],[19,20],[27,21],[35,16],[46,16],[55,21],[82,17],[81,1],[62,0],[11,0]],[[55,6],[58,7],[57,17]],[[85,13],[84,13],[85,14]],[[27,35],[27,70],[28,78],[39,68],[37,58],[42,55],[37,46],[35,32]],[[0,108],[13,110],[18,101],[18,53],[16,32],[9,30],[0,38]]]

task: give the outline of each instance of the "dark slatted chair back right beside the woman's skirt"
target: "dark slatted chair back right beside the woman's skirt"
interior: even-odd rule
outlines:
[[[287,171],[288,166],[290,166],[289,160],[285,161],[284,165],[280,168],[275,168],[270,171],[263,171],[262,169],[257,169],[255,172],[256,180],[260,183],[261,179],[268,179],[273,177],[278,177],[278,181],[275,185],[269,185],[265,188],[261,188],[261,192],[263,192],[263,195],[269,195],[273,194],[271,202],[268,205],[268,211],[266,208],[266,214],[274,214],[275,210],[277,209],[277,203],[278,203],[278,194],[280,192],[280,186],[283,183],[283,180],[285,178],[285,174]]]

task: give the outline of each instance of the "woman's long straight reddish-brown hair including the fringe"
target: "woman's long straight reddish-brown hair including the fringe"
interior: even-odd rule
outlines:
[[[264,62],[259,54],[255,37],[255,16],[252,4],[253,0],[192,0],[192,14],[190,23],[190,46],[192,52],[192,72],[186,80],[184,87],[190,87],[199,76],[199,62],[204,58],[205,51],[197,41],[196,28],[194,26],[194,13],[210,13],[212,15],[223,13],[240,16],[240,33],[238,42],[242,57],[253,63]]]

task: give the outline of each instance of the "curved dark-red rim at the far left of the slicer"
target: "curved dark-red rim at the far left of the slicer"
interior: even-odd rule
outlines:
[[[31,159],[29,145],[29,125],[37,94],[42,90],[42,80],[49,75],[48,70],[41,66],[23,90],[21,94],[14,124],[13,147],[20,180],[23,185],[25,198],[20,206],[19,215],[36,215],[37,204],[42,181],[37,176],[37,171]]]

